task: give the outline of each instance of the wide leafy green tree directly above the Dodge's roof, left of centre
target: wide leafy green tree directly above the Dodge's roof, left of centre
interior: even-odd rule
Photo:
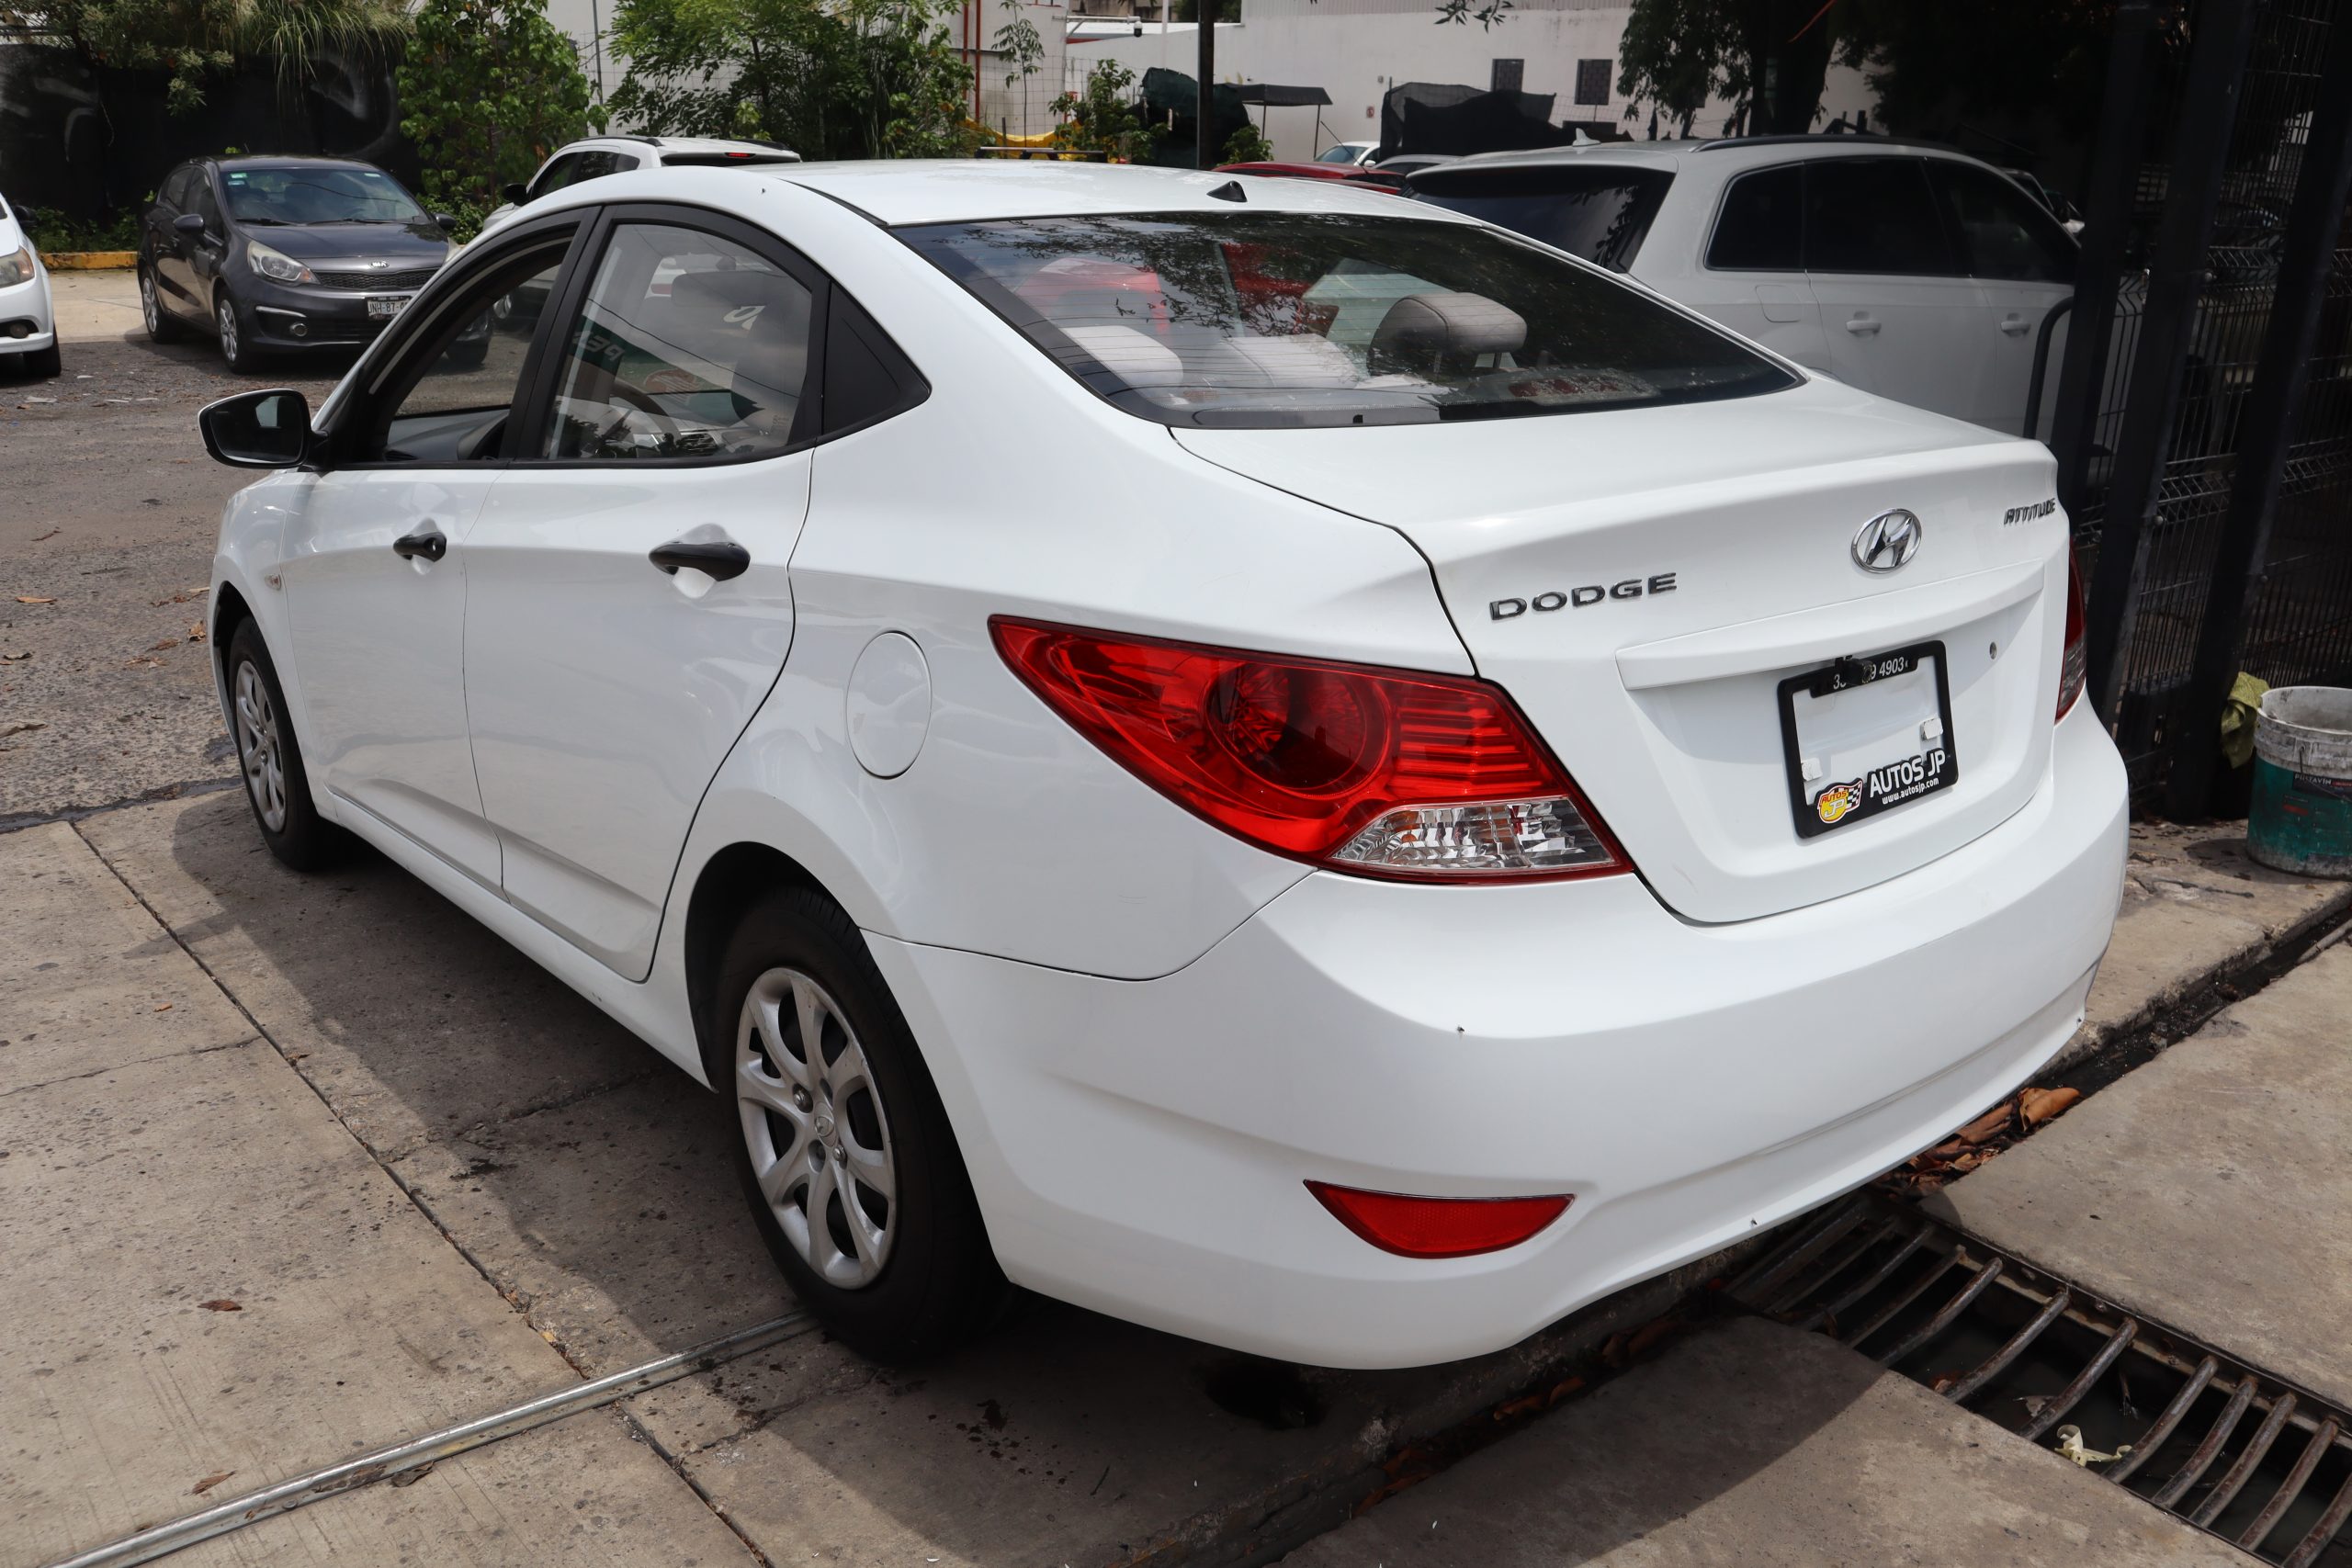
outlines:
[[[628,75],[612,118],[654,134],[757,136],[802,158],[971,150],[957,0],[619,0]]]

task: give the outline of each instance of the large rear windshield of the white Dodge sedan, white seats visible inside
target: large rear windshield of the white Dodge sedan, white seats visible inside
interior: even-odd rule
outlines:
[[[1795,386],[1726,334],[1489,228],[1237,212],[896,233],[1098,395],[1169,425],[1435,423]]]

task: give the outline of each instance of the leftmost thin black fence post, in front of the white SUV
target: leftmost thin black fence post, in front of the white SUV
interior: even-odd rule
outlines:
[[[2107,89],[2098,103],[2098,141],[2091,143],[2091,176],[2082,193],[2082,256],[2074,263],[2074,320],[2058,367],[2058,402],[2051,409],[2051,451],[2058,454],[2058,503],[2072,515],[2082,505],[2082,480],[2091,465],[2091,442],[2100,395],[2107,386],[2107,341],[2114,334],[2114,284],[2124,270],[2131,230],[2131,195],[2140,183],[2147,139],[2147,40],[2157,31],[2152,0],[2114,7],[2107,40]],[[2025,435],[2034,433],[2027,425]]]

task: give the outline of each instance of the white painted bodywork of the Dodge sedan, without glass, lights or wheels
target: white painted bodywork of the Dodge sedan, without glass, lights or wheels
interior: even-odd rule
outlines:
[[[1098,400],[884,228],[1230,212],[1218,183],[882,162],[550,197],[774,230],[854,292],[929,397],[774,461],[510,465],[449,529],[442,599],[412,595],[423,574],[383,548],[452,515],[435,475],[242,491],[216,578],[278,651],[320,809],[699,1079],[689,903],[746,846],[786,856],[863,929],[1016,1284],[1301,1361],[1510,1345],[1867,1180],[2046,1063],[2124,858],[2112,743],[2089,710],[2051,724],[2065,520],[2004,524],[2046,496],[2046,454],[1830,381],[1176,433]],[[1310,181],[1249,202],[1397,214]],[[339,480],[372,494],[341,522],[318,503]],[[1865,578],[1849,541],[1889,505],[1919,510],[1926,543]],[[696,527],[753,569],[694,583],[642,559]],[[362,567],[365,548],[397,571]],[[1668,569],[1672,592],[1484,618],[1496,597]],[[334,592],[346,646],[322,654]],[[419,611],[435,637],[461,614],[461,675],[414,637]],[[1051,712],[990,616],[1479,675],[1639,875],[1411,886],[1258,849]],[[1797,846],[1762,783],[1780,752],[1759,752],[1759,684],[1915,632],[1952,644],[1959,783]],[[915,644],[929,717],[898,717],[924,731],[913,762],[868,771],[849,686],[887,635]],[[412,691],[430,670],[442,689]],[[362,701],[397,733],[362,736]],[[480,769],[470,809],[459,750]],[[1305,1180],[1576,1201],[1529,1244],[1432,1262],[1374,1251]]]

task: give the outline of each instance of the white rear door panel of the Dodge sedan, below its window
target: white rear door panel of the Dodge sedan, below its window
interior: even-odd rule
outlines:
[[[807,451],[652,473],[517,465],[452,550],[506,896],[630,980],[654,959],[694,809],[783,670],[807,505]],[[703,536],[741,543],[750,571],[717,583],[647,564],[654,545]]]

